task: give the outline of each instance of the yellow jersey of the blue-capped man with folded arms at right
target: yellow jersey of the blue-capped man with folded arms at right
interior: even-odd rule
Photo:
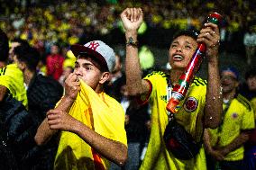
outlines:
[[[226,104],[223,104],[226,107]],[[241,94],[232,100],[230,106],[224,114],[224,120],[220,127],[210,130],[211,146],[224,147],[237,138],[242,130],[252,130],[254,128],[254,112],[251,103]],[[219,129],[222,129],[218,131]],[[226,161],[237,161],[243,158],[243,146],[237,148],[224,157]]]

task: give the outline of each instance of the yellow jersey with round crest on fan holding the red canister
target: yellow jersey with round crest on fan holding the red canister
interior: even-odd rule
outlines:
[[[179,160],[165,147],[163,139],[164,130],[168,124],[166,105],[167,101],[167,75],[163,72],[152,72],[145,77],[151,83],[151,138],[141,170],[204,170],[206,169],[206,156],[202,147],[196,158]],[[190,85],[185,99],[179,103],[180,109],[175,114],[177,121],[182,124],[197,141],[202,140],[202,118],[206,103],[206,81],[195,77]]]

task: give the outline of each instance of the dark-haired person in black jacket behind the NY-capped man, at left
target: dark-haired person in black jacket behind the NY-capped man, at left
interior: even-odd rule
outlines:
[[[33,120],[34,135],[46,117],[46,112],[55,107],[63,94],[63,87],[58,81],[48,76],[37,74],[36,67],[40,60],[37,49],[19,46],[14,49],[14,62],[23,71],[27,86],[28,111]],[[52,138],[48,145],[38,147],[35,143],[23,156],[23,169],[52,169],[57,151],[57,140]]]

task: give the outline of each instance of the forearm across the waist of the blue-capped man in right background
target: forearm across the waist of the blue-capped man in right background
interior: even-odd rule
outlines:
[[[247,132],[242,132],[236,139],[233,139],[233,141],[229,145],[225,146],[224,148],[221,148],[220,150],[224,153],[224,155],[227,155],[233,150],[242,147],[242,145],[248,139],[249,139],[249,134]]]

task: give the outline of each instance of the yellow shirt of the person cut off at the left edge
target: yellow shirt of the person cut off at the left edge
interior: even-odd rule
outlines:
[[[27,107],[28,99],[23,81],[23,72],[16,64],[0,68],[0,85],[9,89],[13,97]]]

